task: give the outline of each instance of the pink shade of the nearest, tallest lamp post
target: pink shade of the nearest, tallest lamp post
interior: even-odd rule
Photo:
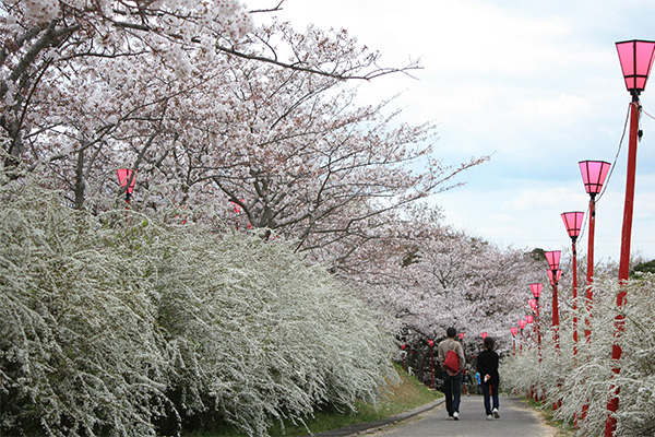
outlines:
[[[619,61],[626,79],[626,87],[639,95],[646,87],[646,81],[653,67],[655,42],[632,39],[617,43]]]

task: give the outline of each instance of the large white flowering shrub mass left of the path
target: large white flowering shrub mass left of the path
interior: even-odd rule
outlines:
[[[376,402],[392,338],[283,241],[0,186],[0,434],[266,435]]]

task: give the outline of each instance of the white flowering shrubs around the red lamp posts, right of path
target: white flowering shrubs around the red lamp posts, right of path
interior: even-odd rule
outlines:
[[[624,331],[618,342],[622,354],[620,373],[615,375],[611,350],[618,314],[616,279],[596,277],[593,287],[591,340],[584,329],[588,312],[583,298],[577,311],[564,306],[561,315],[559,350],[555,347],[550,320],[543,326],[543,357],[533,344],[523,354],[505,359],[503,387],[523,394],[537,390],[545,406],[557,404],[556,418],[575,424],[577,436],[605,433],[610,388],[618,388],[616,436],[655,435],[655,320],[652,291],[655,275],[631,279],[624,286],[627,304]],[[584,288],[581,287],[584,293]],[[579,342],[573,341],[573,316],[577,315]],[[577,353],[574,354],[574,349]]]

